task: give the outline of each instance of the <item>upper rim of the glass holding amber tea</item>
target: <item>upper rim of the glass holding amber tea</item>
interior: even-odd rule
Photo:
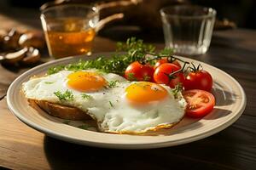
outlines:
[[[79,4],[79,3],[66,3],[66,4],[58,4],[58,5],[53,5],[53,6],[44,8],[43,10],[41,10],[41,15],[49,12],[50,10],[55,10],[57,8],[65,8],[65,7],[84,7],[84,8],[91,9],[92,11],[94,11],[96,13],[99,12],[98,8],[96,8],[95,6],[92,6],[92,5]]]

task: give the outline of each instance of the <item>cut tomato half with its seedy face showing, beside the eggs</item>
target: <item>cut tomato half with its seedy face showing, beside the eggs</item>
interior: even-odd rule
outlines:
[[[187,101],[186,115],[194,118],[206,116],[213,110],[215,98],[207,91],[193,89],[183,92],[183,97]]]

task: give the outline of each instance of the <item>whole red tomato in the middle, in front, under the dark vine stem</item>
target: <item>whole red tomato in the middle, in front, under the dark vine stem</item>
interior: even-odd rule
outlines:
[[[180,70],[180,67],[172,63],[164,63],[156,68],[154,71],[154,82],[159,84],[166,84],[170,88],[174,88],[178,83],[184,83],[185,77],[183,72],[178,72],[170,77],[174,71]]]

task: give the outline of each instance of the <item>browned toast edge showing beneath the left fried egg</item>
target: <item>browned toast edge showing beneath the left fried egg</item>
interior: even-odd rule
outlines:
[[[62,119],[68,119],[73,121],[89,120],[91,117],[84,111],[75,107],[67,105],[59,105],[50,103],[44,100],[28,99],[28,102],[33,105],[38,105],[41,109],[46,111],[50,116],[60,117]]]

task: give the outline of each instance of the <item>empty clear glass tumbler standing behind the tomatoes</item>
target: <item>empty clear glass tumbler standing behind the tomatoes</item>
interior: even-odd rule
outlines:
[[[210,46],[216,10],[182,5],[160,9],[167,48],[176,54],[205,54]]]

